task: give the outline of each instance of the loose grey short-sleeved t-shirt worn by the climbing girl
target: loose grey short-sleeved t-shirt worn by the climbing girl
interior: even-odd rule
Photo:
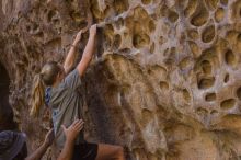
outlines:
[[[80,75],[78,70],[74,69],[57,87],[51,88],[48,105],[53,110],[56,145],[59,149],[62,149],[66,141],[61,125],[69,127],[74,119],[82,118],[82,99],[77,91],[80,84]],[[76,144],[82,142],[84,142],[83,132],[80,133]]]

